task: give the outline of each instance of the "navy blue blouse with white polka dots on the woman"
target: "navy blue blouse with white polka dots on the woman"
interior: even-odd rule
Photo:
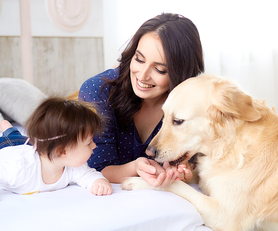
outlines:
[[[108,123],[102,136],[93,138],[96,148],[87,161],[88,165],[97,171],[101,171],[108,165],[126,164],[140,156],[151,158],[146,155],[145,150],[162,125],[162,120],[160,120],[145,144],[142,144],[134,122],[129,124],[127,130],[119,128],[114,110],[107,102],[108,86],[104,88],[104,91],[100,92],[100,88],[105,83],[102,79],[103,77],[107,79],[118,78],[118,68],[109,69],[86,80],[82,84],[78,96],[79,100],[93,102],[98,105],[99,113],[102,113],[107,118]]]

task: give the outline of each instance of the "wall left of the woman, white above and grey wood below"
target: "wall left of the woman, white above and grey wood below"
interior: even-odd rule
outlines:
[[[0,0],[0,78],[22,78],[45,93],[77,91],[104,70],[102,4]]]

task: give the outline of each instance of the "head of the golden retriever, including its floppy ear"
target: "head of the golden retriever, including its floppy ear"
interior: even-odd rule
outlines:
[[[227,139],[235,132],[233,126],[225,129],[229,124],[260,118],[251,96],[234,83],[211,75],[200,75],[179,84],[162,109],[162,128],[146,153],[155,156],[158,162],[169,161],[172,165],[196,153],[209,155],[208,145],[212,140]]]

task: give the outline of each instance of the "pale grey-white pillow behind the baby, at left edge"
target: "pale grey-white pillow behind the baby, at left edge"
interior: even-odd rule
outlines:
[[[39,103],[46,97],[47,95],[39,88],[26,80],[0,78],[0,109],[21,125],[24,125]]]

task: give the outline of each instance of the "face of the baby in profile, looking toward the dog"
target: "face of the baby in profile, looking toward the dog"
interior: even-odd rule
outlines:
[[[93,153],[93,149],[96,147],[92,139],[92,136],[86,137],[83,141],[79,138],[75,147],[66,147],[65,165],[76,168],[85,164]]]

